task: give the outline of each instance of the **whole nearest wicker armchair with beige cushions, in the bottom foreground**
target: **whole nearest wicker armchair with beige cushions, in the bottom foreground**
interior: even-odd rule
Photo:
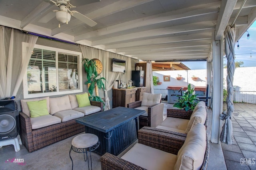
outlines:
[[[206,170],[209,141],[206,127],[197,124],[187,137],[148,130],[138,130],[138,143],[121,158],[105,153],[101,158],[102,170]]]

